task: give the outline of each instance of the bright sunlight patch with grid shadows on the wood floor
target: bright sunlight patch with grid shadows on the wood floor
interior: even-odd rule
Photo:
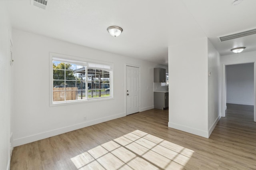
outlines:
[[[193,150],[135,130],[71,158],[78,170],[183,169]]]

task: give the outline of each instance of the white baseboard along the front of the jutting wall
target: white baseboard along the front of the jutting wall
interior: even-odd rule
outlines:
[[[184,132],[192,133],[192,134],[195,134],[198,136],[202,136],[204,138],[209,138],[207,131],[199,130],[196,128],[186,127],[186,126],[179,125],[179,124],[172,123],[172,122],[168,122],[168,127],[182,130]]]

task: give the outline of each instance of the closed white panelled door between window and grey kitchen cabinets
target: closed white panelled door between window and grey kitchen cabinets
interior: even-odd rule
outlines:
[[[140,111],[140,68],[126,66],[126,115]]]

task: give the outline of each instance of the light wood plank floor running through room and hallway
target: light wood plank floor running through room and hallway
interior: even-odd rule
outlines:
[[[114,153],[117,157],[134,158],[132,161],[127,160],[130,161],[128,166],[125,164],[121,166],[122,169],[149,169],[146,165],[140,168],[139,162],[151,159],[154,167],[158,169],[256,170],[256,123],[253,121],[253,106],[227,104],[227,108],[226,117],[220,119],[209,139],[168,128],[168,110],[152,109],[15,147],[11,170],[77,170],[80,167],[88,169],[90,166],[93,169],[114,169],[113,167],[120,166],[113,161],[112,151],[106,151],[114,146],[120,150],[119,153]],[[137,138],[133,139],[134,136]],[[136,140],[136,143],[123,144],[121,139],[124,137]],[[158,140],[160,142],[156,142]],[[136,148],[139,142],[141,148]],[[159,144],[158,150],[161,150],[162,146],[172,150],[162,151],[166,155],[161,159],[152,159],[158,154],[156,148],[148,149],[145,151],[147,154],[140,154],[142,148],[151,147],[150,144],[154,142]],[[170,158],[170,153],[178,152],[180,148],[186,153],[176,157],[184,157],[186,154],[189,156],[180,159],[181,163],[177,164],[179,166],[162,166],[165,162],[159,163],[166,158],[174,160]],[[104,156],[100,157],[99,154]],[[90,166],[81,166],[81,162],[93,160],[92,156],[94,160],[98,157],[100,159],[92,161],[94,163]],[[112,167],[104,165],[107,162],[110,162]]]

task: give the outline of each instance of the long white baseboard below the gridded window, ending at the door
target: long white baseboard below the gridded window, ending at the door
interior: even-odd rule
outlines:
[[[70,132],[72,130],[88,127],[88,126],[91,126],[91,125],[96,125],[98,123],[110,121],[110,120],[117,119],[117,118],[124,117],[124,116],[126,116],[126,113],[120,113],[120,114],[117,114],[117,115],[103,117],[103,118],[100,118],[100,119],[95,119],[95,120],[87,121],[87,122],[84,122],[84,123],[78,123],[76,125],[62,127],[62,128],[58,128],[58,129],[54,129],[54,130],[49,130],[49,131],[46,131],[46,132],[42,132],[42,133],[38,133],[38,134],[26,136],[26,137],[14,139],[12,144],[13,144],[14,147],[15,146],[20,146],[22,144],[27,144],[27,143],[30,143],[30,142],[34,142],[34,141],[41,140],[41,139],[44,139],[44,138],[48,138],[48,137],[51,137],[51,136],[56,136],[58,134]]]

